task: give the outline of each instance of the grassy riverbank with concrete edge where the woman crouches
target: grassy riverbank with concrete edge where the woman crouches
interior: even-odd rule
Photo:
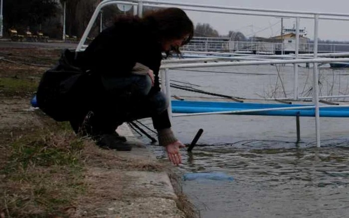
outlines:
[[[118,132],[132,151],[107,150],[30,108],[59,52],[0,51],[0,217],[193,217],[191,204],[174,189],[174,167],[159,161],[126,124]]]

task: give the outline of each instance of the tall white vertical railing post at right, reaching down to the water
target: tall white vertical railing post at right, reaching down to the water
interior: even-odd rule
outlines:
[[[314,58],[318,57],[318,37],[319,37],[319,14],[314,16]],[[313,73],[313,103],[315,104],[315,131],[316,131],[316,146],[320,147],[320,111],[319,111],[319,71],[318,63],[314,63]]]

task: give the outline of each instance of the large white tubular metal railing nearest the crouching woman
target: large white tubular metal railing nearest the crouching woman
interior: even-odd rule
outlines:
[[[102,7],[110,5],[110,4],[116,4],[116,3],[122,3],[122,4],[131,4],[134,5],[134,13],[138,13],[139,16],[142,16],[143,13],[143,6],[152,6],[152,7],[158,7],[158,8],[164,8],[169,7],[170,5],[180,7],[184,10],[191,10],[191,11],[202,11],[202,12],[213,12],[213,13],[224,13],[224,14],[241,14],[241,15],[254,15],[254,16],[283,16],[283,17],[292,17],[296,19],[296,41],[294,44],[295,48],[295,55],[282,55],[277,56],[276,59],[273,60],[265,60],[266,56],[258,55],[258,56],[252,56],[249,55],[246,59],[239,62],[218,62],[218,63],[180,63],[181,61],[178,61],[178,64],[174,64],[173,62],[165,63],[161,67],[161,79],[162,79],[162,89],[166,90],[166,95],[168,99],[171,99],[171,90],[170,90],[170,79],[169,79],[169,71],[170,69],[174,68],[193,68],[193,67],[219,67],[219,66],[243,66],[243,65],[262,65],[262,64],[294,64],[294,99],[298,100],[298,64],[299,63],[312,63],[314,65],[313,68],[313,90],[314,90],[314,96],[313,96],[313,103],[315,106],[311,106],[315,108],[315,129],[316,129],[316,139],[317,139],[317,146],[320,147],[320,117],[319,117],[319,87],[318,87],[318,64],[319,63],[331,63],[331,62],[349,62],[349,58],[338,58],[338,59],[332,59],[332,58],[321,58],[321,55],[318,55],[318,36],[319,36],[319,19],[330,19],[330,20],[349,20],[349,14],[344,13],[329,13],[329,12],[312,12],[312,11],[291,11],[291,10],[276,10],[276,9],[259,9],[259,8],[246,8],[246,7],[233,7],[233,6],[217,6],[217,5],[206,5],[206,4],[193,4],[193,3],[179,3],[179,2],[169,2],[169,1],[158,1],[158,0],[134,0],[134,1],[118,1],[118,0],[103,0],[100,2],[94,11],[90,22],[87,25],[87,28],[76,48],[76,51],[83,50],[83,45],[86,41],[86,38],[88,36],[88,33],[91,30],[91,27],[93,23],[95,22],[99,11],[102,9]],[[137,6],[137,9],[135,9]],[[300,18],[302,19],[313,19],[314,20],[314,46],[313,46],[313,54],[310,56],[302,56],[299,55],[299,23]],[[261,45],[260,45],[261,46]],[[207,49],[209,48],[208,45],[206,45]],[[214,47],[214,49],[218,49],[220,46]],[[235,54],[234,54],[235,55]],[[246,55],[245,55],[246,56]],[[334,57],[336,54],[331,54],[330,57]],[[261,58],[259,60],[253,59],[253,58]],[[275,57],[273,57],[275,58]],[[289,59],[293,58],[293,59]],[[214,60],[222,60],[224,57],[215,56]],[[228,58],[226,58],[228,59]],[[242,58],[240,58],[242,59]],[[196,58],[195,61],[201,61]],[[327,106],[327,107],[335,107],[335,106]],[[299,109],[307,108],[307,107],[299,107]],[[263,109],[263,111],[268,110],[278,110],[278,109]],[[246,112],[248,110],[242,110],[239,112]],[[216,114],[220,113],[232,113],[234,111],[221,111],[221,112],[214,112]],[[172,118],[172,110],[171,110],[171,101],[170,101],[170,108],[169,108],[169,115]],[[201,114],[214,114],[212,113],[196,113],[196,115]],[[190,114],[195,115],[195,114]]]

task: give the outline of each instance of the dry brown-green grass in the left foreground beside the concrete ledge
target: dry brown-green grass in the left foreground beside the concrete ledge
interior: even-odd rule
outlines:
[[[47,128],[47,126],[46,126]],[[4,145],[0,158],[0,213],[6,217],[69,217],[86,192],[82,151],[66,123],[36,127]]]

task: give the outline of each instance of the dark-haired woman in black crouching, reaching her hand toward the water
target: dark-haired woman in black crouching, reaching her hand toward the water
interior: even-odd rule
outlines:
[[[86,93],[93,100],[75,109],[73,129],[90,135],[97,145],[131,150],[115,130],[123,122],[152,117],[159,144],[174,164],[181,163],[179,148],[184,145],[171,128],[170,99],[160,90],[159,69],[162,52],[180,54],[179,47],[192,35],[192,21],[179,8],[152,11],[144,18],[119,17],[83,53],[82,67],[93,75]]]

